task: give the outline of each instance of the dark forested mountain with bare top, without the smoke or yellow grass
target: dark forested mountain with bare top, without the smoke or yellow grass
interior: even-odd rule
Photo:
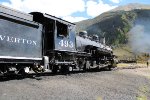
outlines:
[[[105,12],[93,19],[77,22],[77,32],[86,30],[106,38],[106,43],[117,46],[128,44],[129,31],[138,23],[150,22],[150,5],[129,4]]]

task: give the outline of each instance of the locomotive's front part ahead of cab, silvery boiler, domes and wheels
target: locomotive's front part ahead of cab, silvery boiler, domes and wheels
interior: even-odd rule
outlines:
[[[113,66],[113,51],[109,46],[99,42],[97,35],[87,36],[87,32],[80,32],[76,36],[76,45],[78,51],[78,59],[80,63],[85,62],[85,69],[103,68],[108,67],[111,69]],[[83,67],[83,68],[84,68]]]

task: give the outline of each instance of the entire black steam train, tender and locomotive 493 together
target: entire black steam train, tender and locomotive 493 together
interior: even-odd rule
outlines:
[[[97,36],[75,33],[75,24],[0,6],[0,74],[70,72],[113,67],[112,49]]]

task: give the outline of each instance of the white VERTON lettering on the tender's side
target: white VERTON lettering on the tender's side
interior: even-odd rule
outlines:
[[[18,43],[18,44],[28,44],[28,45],[34,45],[34,46],[37,45],[37,41],[34,41],[34,40],[16,38],[16,37],[5,36],[5,35],[0,35],[0,41],[13,42],[13,43]]]

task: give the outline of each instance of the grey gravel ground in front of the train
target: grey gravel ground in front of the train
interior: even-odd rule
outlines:
[[[150,100],[150,68],[3,79],[0,100]]]

